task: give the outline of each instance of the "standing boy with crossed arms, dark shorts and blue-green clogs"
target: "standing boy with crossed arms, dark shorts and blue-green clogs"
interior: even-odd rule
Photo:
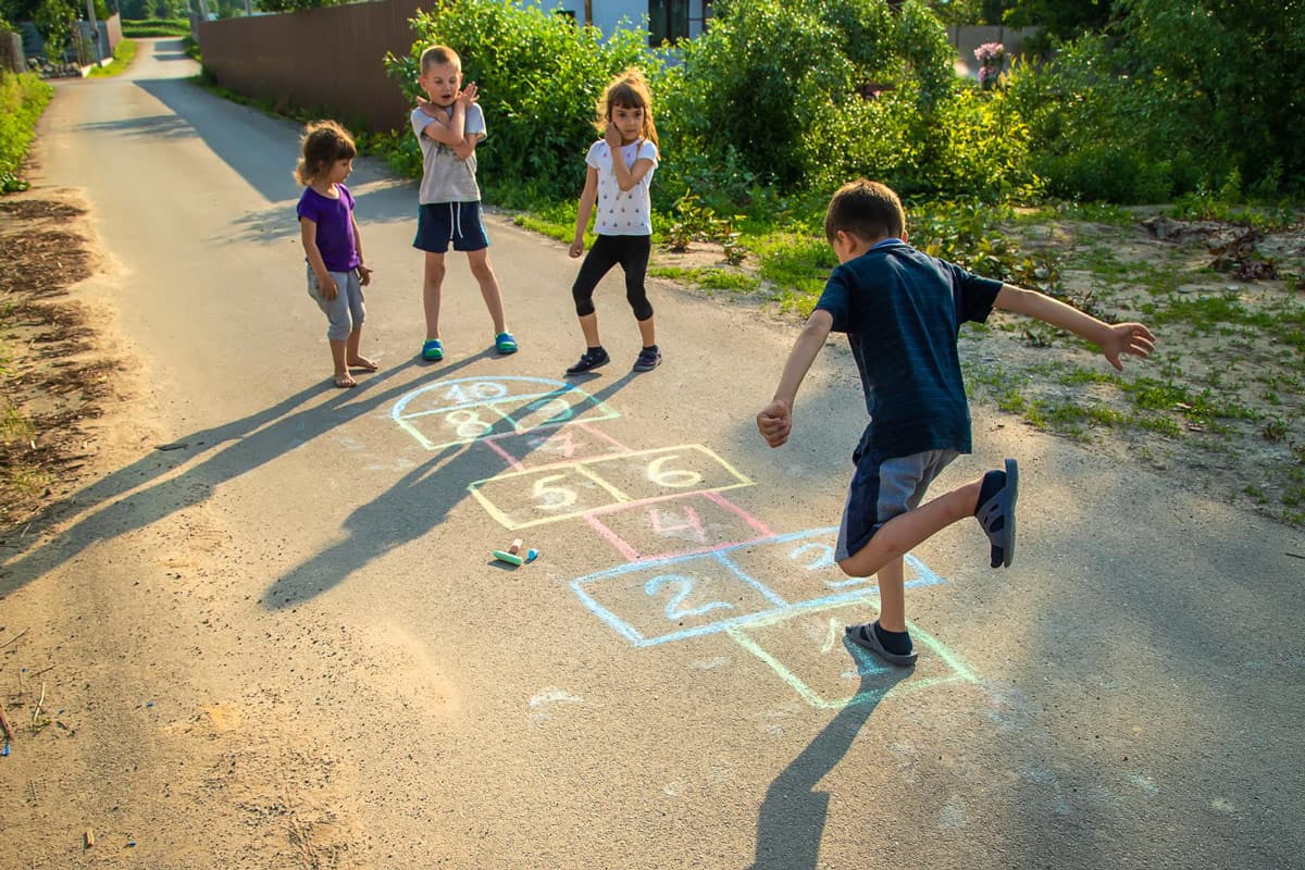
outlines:
[[[476,184],[476,145],[485,137],[485,119],[476,106],[476,85],[462,87],[462,59],[448,46],[422,52],[418,80],[431,102],[412,110],[412,132],[422,145],[422,189],[412,247],[425,252],[422,301],[425,312],[425,342],[422,359],[444,359],[440,339],[440,299],[444,291],[444,258],[454,250],[467,254],[471,274],[493,320],[495,348],[515,353],[517,339],[508,331],[499,278],[489,263],[489,236],[480,219],[480,185]]]

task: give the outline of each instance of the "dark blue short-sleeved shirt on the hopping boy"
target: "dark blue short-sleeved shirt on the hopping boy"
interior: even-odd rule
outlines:
[[[1002,283],[890,239],[838,266],[816,308],[847,333],[870,424],[859,454],[970,453],[960,323],[981,323]]]

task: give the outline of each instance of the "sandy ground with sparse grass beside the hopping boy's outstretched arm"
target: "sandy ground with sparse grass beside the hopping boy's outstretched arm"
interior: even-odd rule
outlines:
[[[977,397],[1088,449],[1305,528],[1305,228],[1144,217],[1015,231],[1065,301],[1158,337],[1114,376],[1074,337],[997,316],[964,340]],[[1053,240],[1053,241],[1051,241]]]

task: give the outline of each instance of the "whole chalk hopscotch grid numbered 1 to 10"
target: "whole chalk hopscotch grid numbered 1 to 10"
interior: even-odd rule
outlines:
[[[392,411],[427,450],[482,442],[502,458],[508,471],[467,489],[505,528],[577,519],[611,544],[625,563],[570,587],[637,648],[724,634],[817,708],[976,680],[916,626],[933,655],[908,681],[860,648],[848,668],[842,625],[865,621],[878,588],[838,567],[838,530],[776,535],[722,494],[753,481],[709,447],[632,450],[590,425],[619,416],[574,385],[517,376],[438,381]],[[906,562],[908,588],[946,582]]]

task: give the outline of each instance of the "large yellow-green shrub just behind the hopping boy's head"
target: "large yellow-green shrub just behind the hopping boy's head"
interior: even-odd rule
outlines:
[[[955,51],[915,0],[897,13],[885,0],[718,3],[711,29],[683,52],[666,78],[667,136],[679,154],[724,171],[711,177],[686,162],[692,181],[680,164],[673,173],[685,189],[731,190],[740,203],[758,183],[792,193],[846,180],[853,167],[914,173],[914,137],[930,133],[955,89]],[[883,120],[893,124],[876,125]]]

